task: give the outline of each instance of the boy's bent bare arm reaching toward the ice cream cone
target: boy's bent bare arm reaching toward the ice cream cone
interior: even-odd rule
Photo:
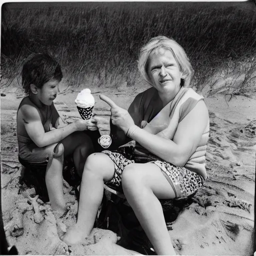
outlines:
[[[88,120],[79,119],[65,127],[45,132],[40,115],[35,107],[31,105],[23,105],[20,107],[20,110],[26,132],[38,147],[57,143],[72,132],[76,130],[85,130],[87,129],[88,124],[90,126],[93,125]]]

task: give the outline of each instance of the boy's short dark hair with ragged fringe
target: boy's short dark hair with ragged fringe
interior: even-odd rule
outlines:
[[[60,81],[62,72],[59,63],[47,53],[34,53],[26,59],[22,71],[22,87],[25,93],[30,91],[30,84],[41,88],[50,79]]]

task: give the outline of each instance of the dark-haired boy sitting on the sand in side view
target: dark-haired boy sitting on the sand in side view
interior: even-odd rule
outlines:
[[[66,211],[63,194],[63,157],[73,156],[81,175],[87,156],[93,152],[91,139],[83,130],[95,130],[89,120],[79,119],[66,125],[53,100],[62,78],[60,65],[48,54],[28,57],[21,71],[22,87],[28,93],[17,110],[17,140],[20,162],[25,166],[46,166],[45,183],[53,210]]]

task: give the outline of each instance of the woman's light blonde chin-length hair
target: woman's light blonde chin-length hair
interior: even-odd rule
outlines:
[[[139,59],[138,59],[138,70],[142,74],[143,78],[152,85],[152,81],[148,76],[148,58],[151,53],[153,53],[156,49],[163,48],[166,50],[170,50],[173,54],[178,66],[179,70],[181,71],[181,80],[183,79],[183,84],[187,87],[190,83],[190,80],[193,75],[193,68],[189,62],[189,59],[184,51],[184,49],[173,39],[170,39],[166,36],[156,36],[151,38],[139,52]]]

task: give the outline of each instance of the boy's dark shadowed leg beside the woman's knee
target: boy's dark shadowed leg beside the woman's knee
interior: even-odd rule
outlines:
[[[75,169],[81,177],[86,158],[94,152],[90,137],[82,131],[75,131],[62,139],[61,143],[64,146],[64,157],[73,156]]]

